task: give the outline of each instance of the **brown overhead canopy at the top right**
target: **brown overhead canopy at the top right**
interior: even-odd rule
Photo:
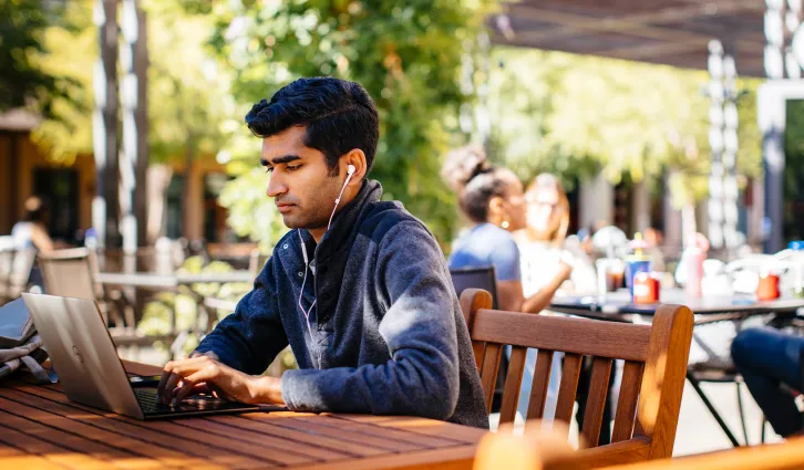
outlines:
[[[741,75],[764,76],[762,0],[522,0],[491,18],[494,44],[707,69],[719,39]]]

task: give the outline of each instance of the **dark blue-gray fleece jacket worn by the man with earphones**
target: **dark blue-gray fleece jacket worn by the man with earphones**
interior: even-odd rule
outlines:
[[[286,234],[254,290],[197,351],[260,374],[290,344],[299,369],[282,375],[282,397],[293,410],[412,415],[488,428],[444,254],[421,221],[381,195],[379,182],[365,181],[318,246],[307,230]],[[301,307],[299,236],[316,267]],[[309,330],[302,307],[311,309]]]

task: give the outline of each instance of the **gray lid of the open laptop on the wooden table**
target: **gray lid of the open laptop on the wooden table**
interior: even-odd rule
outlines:
[[[68,398],[143,419],[95,302],[23,293]]]

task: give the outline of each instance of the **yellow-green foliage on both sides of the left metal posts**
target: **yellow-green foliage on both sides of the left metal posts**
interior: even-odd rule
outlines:
[[[83,90],[78,106],[54,105],[65,118],[45,119],[33,135],[51,158],[66,163],[76,154],[92,153],[92,71],[99,59],[92,7],[89,1],[69,2],[65,15],[73,28],[52,27],[44,34],[52,53],[42,61],[43,69],[74,76]],[[146,1],[144,7],[151,161],[214,158],[221,145],[223,118],[233,112],[234,102],[226,92],[228,77],[205,49],[212,18],[186,12],[174,2]]]

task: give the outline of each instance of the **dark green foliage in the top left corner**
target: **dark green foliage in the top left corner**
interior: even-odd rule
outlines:
[[[0,111],[28,108],[56,116],[60,100],[72,100],[76,82],[42,66],[49,28],[69,28],[62,9],[43,0],[0,0]]]

